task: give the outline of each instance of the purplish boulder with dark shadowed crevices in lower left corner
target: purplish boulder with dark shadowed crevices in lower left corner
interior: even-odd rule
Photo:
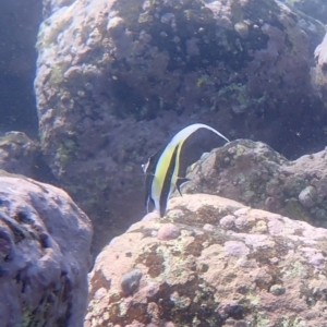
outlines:
[[[0,172],[0,325],[81,327],[90,240],[65,192]]]

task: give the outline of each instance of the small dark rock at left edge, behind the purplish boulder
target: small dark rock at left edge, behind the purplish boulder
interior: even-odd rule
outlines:
[[[0,136],[0,169],[38,181],[53,181],[44,162],[39,143],[22,132],[8,132]]]

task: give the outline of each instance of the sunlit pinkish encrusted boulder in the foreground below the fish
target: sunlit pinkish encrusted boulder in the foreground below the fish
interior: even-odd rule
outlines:
[[[159,240],[171,222],[180,237]],[[175,197],[165,219],[148,215],[98,256],[85,327],[326,326],[326,246],[327,231],[304,221],[214,195]],[[125,296],[120,279],[133,269],[143,275]]]

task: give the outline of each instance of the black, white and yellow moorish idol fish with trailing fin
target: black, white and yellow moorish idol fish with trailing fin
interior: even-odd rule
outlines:
[[[179,175],[181,149],[186,138],[198,129],[207,129],[229,142],[218,131],[205,124],[192,124],[177,133],[167,146],[156,152],[145,165],[142,165],[145,174],[147,213],[149,203],[152,203],[159,211],[160,217],[164,217],[172,191],[177,189],[182,195],[181,185],[190,180]]]

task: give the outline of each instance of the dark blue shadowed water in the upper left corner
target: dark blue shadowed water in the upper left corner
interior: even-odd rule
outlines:
[[[33,82],[40,0],[0,1],[0,133],[15,130],[37,136]]]

